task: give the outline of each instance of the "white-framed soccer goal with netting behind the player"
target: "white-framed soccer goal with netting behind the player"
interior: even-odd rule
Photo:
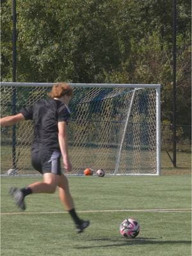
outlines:
[[[52,83],[1,83],[1,116],[47,97]],[[159,175],[161,164],[160,84],[71,84],[68,124],[73,170],[113,175]],[[35,174],[31,121],[1,127],[1,173],[10,168]]]

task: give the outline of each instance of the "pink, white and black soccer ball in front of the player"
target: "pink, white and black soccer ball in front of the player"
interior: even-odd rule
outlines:
[[[120,234],[127,238],[134,238],[140,233],[140,224],[138,221],[128,218],[120,225]]]

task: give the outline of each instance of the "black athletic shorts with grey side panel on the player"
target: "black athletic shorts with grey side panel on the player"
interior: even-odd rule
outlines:
[[[31,153],[31,163],[35,170],[44,173],[54,173],[61,175],[61,153],[58,150],[33,149]]]

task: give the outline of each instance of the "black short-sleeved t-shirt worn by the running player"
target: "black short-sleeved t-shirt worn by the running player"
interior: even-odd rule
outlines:
[[[45,99],[20,109],[26,120],[33,120],[32,150],[60,150],[58,122],[68,122],[70,110],[60,100]]]

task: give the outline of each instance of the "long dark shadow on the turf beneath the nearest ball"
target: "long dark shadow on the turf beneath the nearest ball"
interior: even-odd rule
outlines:
[[[100,238],[100,239],[90,239],[87,241],[110,241],[113,243],[110,244],[97,244],[92,246],[76,246],[76,249],[88,249],[88,248],[99,248],[99,247],[118,247],[118,246],[132,246],[132,245],[145,245],[145,244],[191,244],[191,241],[184,240],[184,241],[159,241],[156,238],[134,238],[134,239],[109,239],[109,238]]]

